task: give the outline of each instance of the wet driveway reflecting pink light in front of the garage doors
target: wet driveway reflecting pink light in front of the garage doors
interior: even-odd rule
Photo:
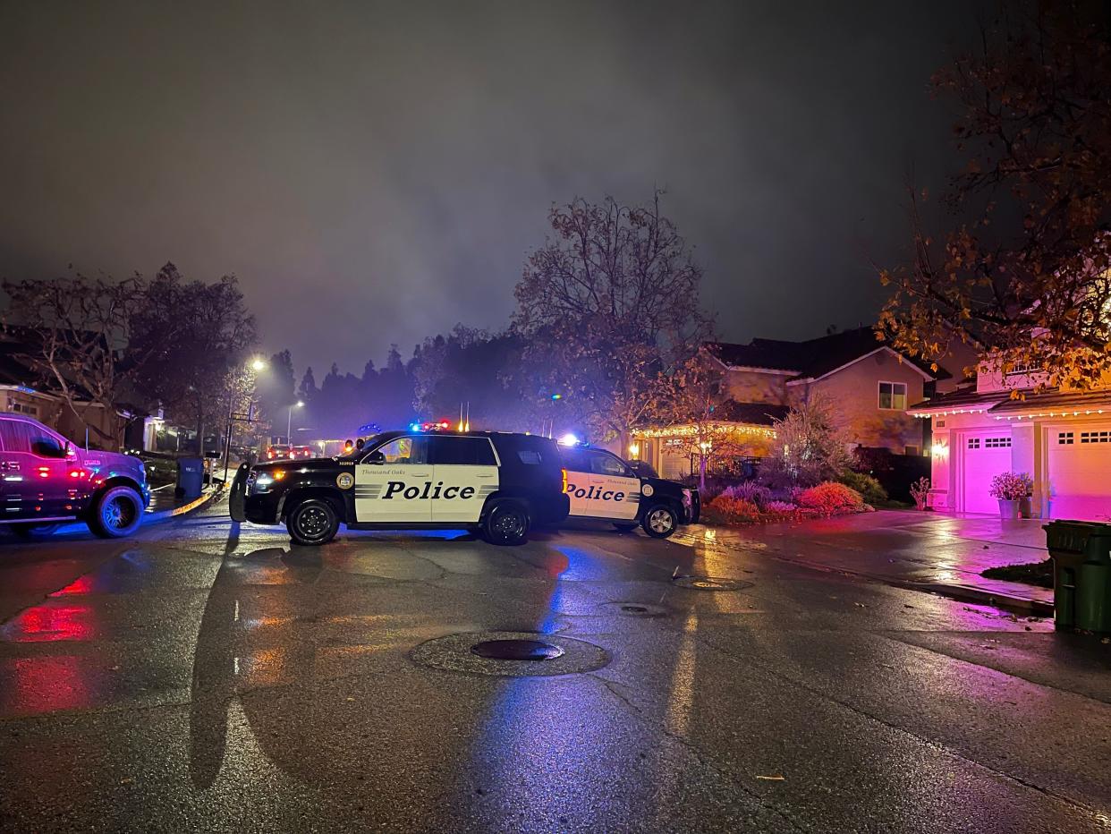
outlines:
[[[1050,616],[1053,592],[985,579],[980,572],[1049,557],[1041,519],[879,510],[794,524],[752,527],[697,525],[675,535],[685,543],[737,548],[820,570],[934,592],[968,602]]]

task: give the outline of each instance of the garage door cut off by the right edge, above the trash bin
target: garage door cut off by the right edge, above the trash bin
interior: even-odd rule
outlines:
[[[1049,430],[1049,515],[1111,518],[1111,425]]]

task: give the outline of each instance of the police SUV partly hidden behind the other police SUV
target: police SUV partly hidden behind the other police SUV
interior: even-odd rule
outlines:
[[[694,524],[701,512],[698,489],[654,477],[604,449],[564,446],[567,493],[572,518],[611,522],[620,530],[640,525],[654,538],[667,538],[681,524]]]

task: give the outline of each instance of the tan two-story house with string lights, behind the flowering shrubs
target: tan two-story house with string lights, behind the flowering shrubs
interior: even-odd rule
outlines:
[[[835,405],[853,446],[898,455],[927,454],[929,427],[907,408],[935,394],[939,381],[951,379],[944,369],[934,373],[878,341],[870,327],[805,341],[714,341],[704,344],[702,350],[723,371],[718,409],[723,428],[742,434],[753,457],[767,456],[774,438],[773,423],[815,393]],[[679,441],[683,430],[665,426],[634,431],[637,456],[665,476],[689,474],[689,456],[669,451],[683,446]]]

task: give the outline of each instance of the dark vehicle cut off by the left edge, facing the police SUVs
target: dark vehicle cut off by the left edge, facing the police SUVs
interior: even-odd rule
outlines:
[[[86,451],[38,420],[0,414],[0,524],[31,537],[81,520],[98,536],[134,533],[150,500],[142,461]]]

